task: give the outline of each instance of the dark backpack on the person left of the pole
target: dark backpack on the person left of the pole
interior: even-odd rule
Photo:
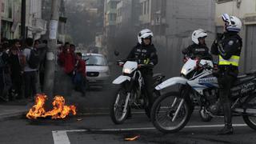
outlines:
[[[40,57],[38,50],[30,50],[30,58],[28,60],[28,65],[31,69],[38,69],[40,63]]]

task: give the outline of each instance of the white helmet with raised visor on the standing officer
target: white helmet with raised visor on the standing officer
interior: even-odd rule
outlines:
[[[222,20],[225,22],[226,30],[239,32],[242,29],[242,22],[239,18],[222,14]]]

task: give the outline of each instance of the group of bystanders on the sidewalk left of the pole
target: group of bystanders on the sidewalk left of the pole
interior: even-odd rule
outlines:
[[[4,101],[26,98],[29,101],[42,90],[46,41],[26,38],[25,45],[19,39],[2,38],[0,45],[0,97]],[[37,82],[41,85],[37,85]]]

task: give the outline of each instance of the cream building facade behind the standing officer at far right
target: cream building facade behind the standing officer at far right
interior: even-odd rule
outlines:
[[[256,70],[256,1],[255,0],[218,0],[216,2],[215,23],[217,33],[222,33],[222,14],[234,15],[242,20],[240,35],[243,39],[240,72]]]

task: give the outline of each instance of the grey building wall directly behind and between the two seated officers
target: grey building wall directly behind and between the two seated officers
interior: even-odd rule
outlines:
[[[194,30],[207,31],[207,46],[214,41],[214,1],[212,0],[167,0],[166,34],[155,39],[159,55],[158,70],[170,76],[178,76],[182,68],[182,49],[190,44]],[[159,72],[161,72],[159,71]]]

